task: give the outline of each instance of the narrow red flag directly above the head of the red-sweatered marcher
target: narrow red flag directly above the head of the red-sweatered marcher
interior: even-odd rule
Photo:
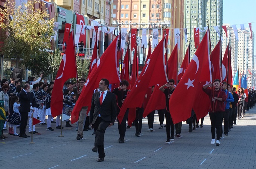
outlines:
[[[221,71],[220,71],[220,65],[219,65],[219,52],[220,52],[220,41],[218,44],[215,46],[215,48],[212,51],[212,67],[213,67],[213,79],[218,78],[221,80]]]

